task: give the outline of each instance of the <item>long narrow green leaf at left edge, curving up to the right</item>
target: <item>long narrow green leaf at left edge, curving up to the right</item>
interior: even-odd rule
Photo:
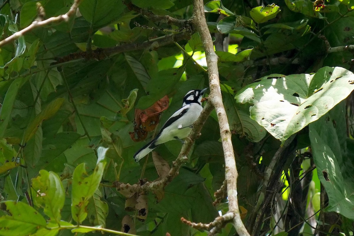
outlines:
[[[29,77],[18,78],[12,81],[10,87],[8,88],[4,102],[2,103],[1,113],[0,113],[0,138],[4,138],[5,131],[10,121],[11,111],[13,108],[13,103],[15,102],[18,89],[27,81]]]

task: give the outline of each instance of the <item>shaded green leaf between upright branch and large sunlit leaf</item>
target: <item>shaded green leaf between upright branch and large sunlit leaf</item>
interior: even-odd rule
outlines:
[[[267,131],[250,118],[249,107],[236,103],[230,93],[223,93],[223,99],[230,129],[240,136],[246,135],[252,142],[261,141]]]

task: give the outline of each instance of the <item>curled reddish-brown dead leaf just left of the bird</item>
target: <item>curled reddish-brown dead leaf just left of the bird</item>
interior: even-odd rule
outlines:
[[[145,110],[135,109],[134,132],[129,133],[134,142],[144,140],[148,132],[155,129],[160,121],[161,112],[169,108],[169,102],[169,97],[166,95]]]

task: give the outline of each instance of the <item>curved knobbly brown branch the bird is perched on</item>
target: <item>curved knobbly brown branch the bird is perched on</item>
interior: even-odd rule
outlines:
[[[199,118],[194,122],[192,131],[190,132],[188,138],[185,139],[181,152],[179,152],[177,159],[173,161],[170,172],[166,175],[166,177],[155,182],[146,182],[143,185],[138,185],[138,184],[130,185],[130,184],[124,184],[120,182],[114,182],[113,185],[117,188],[118,191],[125,190],[128,192],[138,192],[138,193],[144,191],[152,191],[156,189],[164,189],[165,186],[178,175],[179,168],[181,168],[182,164],[188,160],[187,158],[188,153],[192,148],[195,139],[199,137],[201,128],[203,127],[206,119],[209,117],[212,110],[213,110],[212,104],[210,102],[207,102]]]

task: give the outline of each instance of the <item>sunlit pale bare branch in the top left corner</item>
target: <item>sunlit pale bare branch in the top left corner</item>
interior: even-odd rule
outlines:
[[[60,23],[60,22],[68,22],[69,19],[70,19],[70,16],[76,14],[76,9],[79,7],[79,4],[80,4],[80,1],[81,0],[74,0],[74,4],[70,7],[70,10],[63,14],[63,15],[59,15],[59,16],[56,16],[56,17],[51,17],[51,18],[48,18],[44,21],[42,21],[40,19],[40,17],[38,17],[34,22],[32,22],[32,24],[30,24],[28,27],[16,32],[15,34],[7,37],[6,39],[0,41],[0,47],[1,46],[4,46],[5,44],[8,44],[9,42],[12,42],[16,39],[18,39],[19,37],[25,35],[26,33],[32,31],[33,29],[37,28],[37,27],[43,27],[45,25],[49,25],[49,24],[52,24],[52,23]]]

